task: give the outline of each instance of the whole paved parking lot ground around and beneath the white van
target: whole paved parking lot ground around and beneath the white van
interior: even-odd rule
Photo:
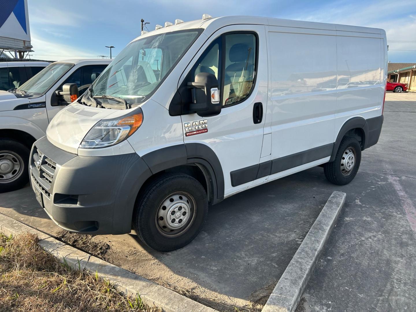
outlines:
[[[409,101],[410,99],[410,101]],[[163,285],[242,306],[279,279],[333,191],[347,193],[337,227],[305,291],[307,311],[416,310],[416,94],[386,95],[379,144],[357,177],[334,186],[320,167],[245,191],[210,208],[188,246],[144,247],[134,233],[100,235],[104,258]],[[59,228],[29,187],[0,195],[0,212],[51,234]]]

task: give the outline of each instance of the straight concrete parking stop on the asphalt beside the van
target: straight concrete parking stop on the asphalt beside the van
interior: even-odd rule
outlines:
[[[346,194],[333,192],[293,256],[262,312],[293,312],[328,240]]]

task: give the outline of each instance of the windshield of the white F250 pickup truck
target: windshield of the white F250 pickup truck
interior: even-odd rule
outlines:
[[[74,64],[52,63],[38,72],[31,79],[17,88],[25,94],[43,95],[57,82]],[[15,91],[16,92],[16,91]]]

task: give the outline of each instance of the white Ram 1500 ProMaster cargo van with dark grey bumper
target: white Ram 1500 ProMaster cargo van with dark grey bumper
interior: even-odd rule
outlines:
[[[344,185],[383,123],[384,30],[219,17],[143,33],[52,119],[30,181],[60,227],[151,248],[198,235],[208,205],[323,165]]]

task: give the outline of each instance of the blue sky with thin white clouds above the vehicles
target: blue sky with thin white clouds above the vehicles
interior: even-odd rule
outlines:
[[[28,0],[28,6],[32,58],[37,59],[108,56],[106,45],[116,47],[114,57],[140,35],[141,18],[153,30],[156,24],[208,13],[379,27],[386,30],[391,62],[416,62],[416,0]]]

